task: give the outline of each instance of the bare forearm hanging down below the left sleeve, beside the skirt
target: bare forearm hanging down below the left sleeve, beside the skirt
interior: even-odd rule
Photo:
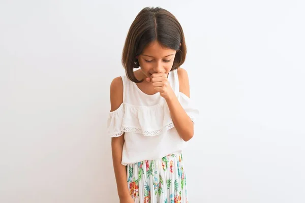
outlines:
[[[129,194],[127,186],[126,166],[121,164],[122,151],[124,144],[124,135],[111,139],[112,161],[117,186],[117,193],[120,198],[124,198]]]

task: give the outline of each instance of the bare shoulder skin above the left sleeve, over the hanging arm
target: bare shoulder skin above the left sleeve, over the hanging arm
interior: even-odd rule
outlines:
[[[115,111],[123,103],[123,80],[116,77],[110,84],[111,112]]]

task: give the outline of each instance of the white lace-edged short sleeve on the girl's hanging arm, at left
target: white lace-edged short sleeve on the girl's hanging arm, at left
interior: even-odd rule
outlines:
[[[122,134],[124,134],[124,131],[121,130],[124,112],[123,104],[121,104],[115,111],[109,112],[107,121],[107,133],[111,138],[120,137]]]

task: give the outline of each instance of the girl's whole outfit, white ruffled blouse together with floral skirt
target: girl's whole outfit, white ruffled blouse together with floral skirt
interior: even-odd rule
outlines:
[[[123,103],[108,117],[108,134],[124,134],[121,164],[126,165],[128,186],[135,202],[187,202],[182,150],[186,142],[179,136],[160,93],[148,95],[126,76]],[[168,81],[182,108],[195,123],[199,115],[193,101],[179,91],[177,70]],[[148,167],[147,167],[148,166]]]

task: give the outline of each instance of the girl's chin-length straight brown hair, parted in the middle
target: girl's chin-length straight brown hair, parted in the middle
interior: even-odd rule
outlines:
[[[162,46],[177,51],[171,71],[184,63],[187,47],[178,20],[165,9],[146,7],[138,13],[131,24],[123,48],[122,64],[131,81],[142,82],[136,79],[133,71],[140,66],[136,56],[143,52],[146,45],[156,40]]]

